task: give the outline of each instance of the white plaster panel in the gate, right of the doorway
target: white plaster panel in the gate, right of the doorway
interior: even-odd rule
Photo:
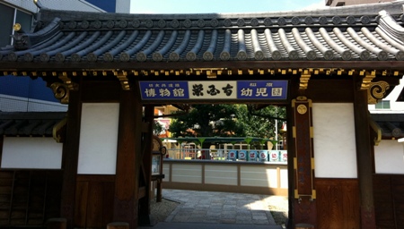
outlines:
[[[356,178],[354,106],[313,103],[314,174],[324,178]]]

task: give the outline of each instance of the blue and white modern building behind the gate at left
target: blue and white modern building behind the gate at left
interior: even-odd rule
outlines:
[[[129,13],[130,0],[40,0],[51,9]],[[0,47],[13,44],[10,37],[13,25],[19,23],[22,30],[31,31],[35,26],[35,14],[39,8],[32,0],[4,0],[0,2]],[[5,76],[0,78],[0,111],[66,111],[67,106],[54,98],[52,91],[41,79]]]

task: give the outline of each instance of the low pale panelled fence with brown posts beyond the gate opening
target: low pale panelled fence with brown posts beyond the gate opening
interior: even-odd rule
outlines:
[[[164,159],[162,187],[287,196],[284,162]]]

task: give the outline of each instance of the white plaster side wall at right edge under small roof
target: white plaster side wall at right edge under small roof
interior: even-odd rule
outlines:
[[[376,174],[404,174],[404,143],[382,140],[374,147]]]

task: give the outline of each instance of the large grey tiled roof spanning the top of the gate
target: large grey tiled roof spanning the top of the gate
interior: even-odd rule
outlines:
[[[16,33],[22,42],[3,48],[0,63],[403,61],[404,16],[353,9],[279,16],[43,10],[41,19],[60,17],[40,21],[25,42]]]

